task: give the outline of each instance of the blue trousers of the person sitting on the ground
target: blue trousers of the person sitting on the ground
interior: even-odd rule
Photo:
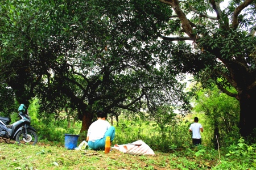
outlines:
[[[106,137],[110,137],[110,142],[112,142],[115,138],[115,128],[114,126],[110,126],[110,128],[106,131],[105,135],[101,139],[97,139],[96,141],[88,141],[88,146],[93,150],[104,150]]]

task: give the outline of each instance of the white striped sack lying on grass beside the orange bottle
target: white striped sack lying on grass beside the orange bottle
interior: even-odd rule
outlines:
[[[155,155],[154,151],[141,140],[125,145],[115,144],[112,149],[131,155]]]

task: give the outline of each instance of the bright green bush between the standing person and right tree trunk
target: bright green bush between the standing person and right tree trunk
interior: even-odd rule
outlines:
[[[194,86],[197,88],[200,86]],[[231,90],[232,91],[232,90]],[[195,107],[193,112],[205,114],[204,135],[212,136],[210,141],[205,141],[209,145],[217,148],[217,142],[220,146],[229,146],[235,139],[240,137],[238,123],[240,115],[240,106],[236,99],[222,93],[217,87],[209,90],[195,90],[197,93]]]

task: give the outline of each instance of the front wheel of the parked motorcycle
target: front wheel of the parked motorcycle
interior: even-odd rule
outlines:
[[[27,138],[24,137],[22,130],[19,131],[19,133],[16,135],[16,142],[18,144],[29,144],[29,145],[35,145],[38,142],[38,135],[35,133],[35,131],[27,129]]]

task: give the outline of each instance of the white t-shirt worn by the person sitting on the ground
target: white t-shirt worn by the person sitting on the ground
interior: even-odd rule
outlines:
[[[101,139],[104,137],[106,130],[108,130],[110,124],[105,120],[97,120],[90,125],[88,129],[87,136],[89,137],[89,141],[96,141],[97,139]]]

